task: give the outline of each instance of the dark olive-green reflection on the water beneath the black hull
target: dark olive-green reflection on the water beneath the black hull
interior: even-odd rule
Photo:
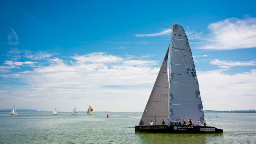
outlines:
[[[223,134],[165,134],[136,132],[143,143],[206,143],[208,137],[223,137]]]

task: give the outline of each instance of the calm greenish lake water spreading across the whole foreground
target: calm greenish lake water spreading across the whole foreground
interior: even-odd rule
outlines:
[[[109,114],[109,118],[107,118]],[[0,113],[0,143],[255,143],[256,113],[205,113],[220,134],[134,132],[142,113]],[[207,123],[211,123],[209,118]],[[219,126],[219,124],[220,126]]]

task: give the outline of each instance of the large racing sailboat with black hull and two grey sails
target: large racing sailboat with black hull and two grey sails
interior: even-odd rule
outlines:
[[[169,79],[167,72],[170,49]],[[172,23],[168,46],[146,108],[135,132],[219,133],[221,129],[197,125],[172,125],[168,119],[191,118],[203,123],[204,113],[195,65],[187,35],[182,26]],[[162,125],[165,120],[167,125]],[[153,125],[150,125],[150,122]]]

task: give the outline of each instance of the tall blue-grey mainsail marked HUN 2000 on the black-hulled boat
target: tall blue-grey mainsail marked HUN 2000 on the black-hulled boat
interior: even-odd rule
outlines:
[[[170,63],[170,119],[203,120],[203,106],[199,92],[192,52],[182,26],[172,25]]]

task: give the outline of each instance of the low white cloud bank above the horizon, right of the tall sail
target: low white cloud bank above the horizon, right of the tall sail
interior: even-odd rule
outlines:
[[[256,70],[225,74],[225,70],[197,72],[204,109],[255,109]]]

